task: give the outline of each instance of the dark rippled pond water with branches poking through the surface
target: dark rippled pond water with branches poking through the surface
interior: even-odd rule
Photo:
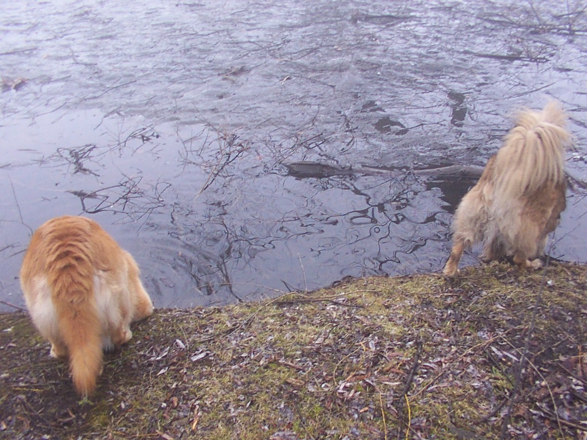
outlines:
[[[158,307],[441,269],[471,181],[414,168],[483,165],[554,97],[587,179],[587,2],[512,3],[2,2],[0,299],[22,306],[31,230],[62,214]],[[583,195],[559,258],[587,260]]]

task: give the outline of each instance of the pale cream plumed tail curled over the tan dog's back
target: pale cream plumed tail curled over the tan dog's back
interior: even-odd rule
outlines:
[[[531,196],[546,182],[563,182],[565,147],[570,143],[558,101],[549,102],[542,111],[521,111],[495,157],[494,197]]]

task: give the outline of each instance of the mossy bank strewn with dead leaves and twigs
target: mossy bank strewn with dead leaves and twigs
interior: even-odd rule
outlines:
[[[492,263],[160,309],[86,401],[28,316],[0,315],[0,437],[495,439],[513,395],[504,438],[584,438],[585,286],[584,266]]]

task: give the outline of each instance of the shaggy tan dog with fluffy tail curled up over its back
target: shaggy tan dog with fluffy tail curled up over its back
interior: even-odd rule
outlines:
[[[482,259],[513,256],[539,268],[546,236],[566,207],[565,147],[571,141],[556,101],[525,110],[454,214],[453,248],[444,275],[454,276],[464,249],[483,242]],[[532,261],[533,260],[533,261]]]

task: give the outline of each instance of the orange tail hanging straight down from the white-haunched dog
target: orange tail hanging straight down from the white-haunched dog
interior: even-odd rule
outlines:
[[[96,388],[103,357],[94,265],[87,243],[80,238],[60,245],[46,269],[73,384],[80,395],[87,396]]]

